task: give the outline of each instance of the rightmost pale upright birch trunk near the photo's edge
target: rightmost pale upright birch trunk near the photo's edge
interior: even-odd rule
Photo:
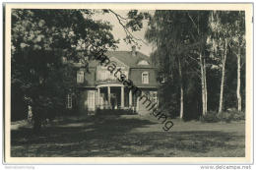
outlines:
[[[242,99],[241,99],[240,87],[241,87],[241,51],[240,51],[240,47],[238,47],[238,54],[237,54],[237,87],[236,87],[237,110],[238,111],[241,111],[241,109],[242,109]]]

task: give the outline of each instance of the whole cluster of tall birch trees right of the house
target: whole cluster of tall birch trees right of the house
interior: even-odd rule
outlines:
[[[131,12],[129,24],[132,26],[130,27],[135,30],[142,28],[142,14],[136,10]],[[240,63],[240,59],[245,51],[243,15],[243,12],[234,11],[160,10],[153,16],[145,17],[149,20],[146,39],[154,44],[155,51],[152,56],[158,63],[159,78],[166,78],[165,85],[160,86],[160,91],[165,90],[160,96],[163,99],[162,103],[166,103],[163,104],[164,106],[171,105],[169,110],[179,110],[179,117],[192,115],[182,113],[198,108],[199,104],[193,101],[198,101],[197,89],[200,86],[201,109],[196,111],[205,116],[209,110],[208,105],[211,110],[222,111],[224,101],[233,97],[231,73],[234,65],[231,64],[231,57],[235,54],[237,57],[236,96],[237,107],[240,110],[240,68],[244,64]],[[229,73],[226,75],[226,72]],[[226,80],[228,89],[224,89]],[[217,85],[219,81],[220,86]],[[174,89],[167,90],[166,85]],[[176,89],[177,86],[179,89]],[[208,95],[211,95],[211,98],[208,98]],[[195,97],[193,101],[189,96]],[[175,99],[180,101],[179,108],[174,102]],[[216,103],[219,103],[219,106]],[[229,102],[228,105],[232,107],[233,103]]]

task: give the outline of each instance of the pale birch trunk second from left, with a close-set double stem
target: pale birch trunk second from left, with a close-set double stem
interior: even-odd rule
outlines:
[[[204,64],[204,59],[202,52],[200,52],[200,69],[201,69],[201,84],[202,84],[202,111],[203,111],[203,116],[206,115],[207,113],[207,104],[206,104],[206,76],[205,76],[205,64]]]

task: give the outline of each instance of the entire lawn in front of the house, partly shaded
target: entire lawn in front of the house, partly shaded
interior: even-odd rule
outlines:
[[[244,157],[245,124],[173,120],[168,132],[156,118],[139,115],[59,118],[32,135],[12,124],[13,157]]]

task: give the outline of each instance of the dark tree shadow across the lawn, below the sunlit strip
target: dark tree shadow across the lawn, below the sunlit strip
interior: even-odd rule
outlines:
[[[11,133],[11,155],[20,156],[195,156],[208,155],[213,149],[244,151],[244,145],[232,143],[244,139],[220,131],[134,132],[135,128],[155,125],[148,120],[121,117],[90,117],[63,120],[61,126],[48,127],[40,135],[31,129]],[[182,155],[182,154],[189,155]],[[219,153],[216,156],[225,156]],[[227,154],[227,153],[226,153]],[[231,153],[230,153],[231,154]],[[244,153],[239,153],[242,156]],[[226,155],[237,156],[237,155]]]

